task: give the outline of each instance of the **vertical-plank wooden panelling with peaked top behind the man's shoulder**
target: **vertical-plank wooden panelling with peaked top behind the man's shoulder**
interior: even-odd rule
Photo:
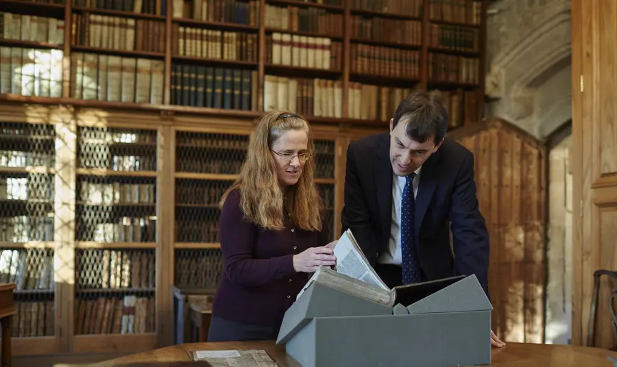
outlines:
[[[494,119],[450,134],[474,153],[480,210],[491,244],[493,330],[507,342],[544,340],[546,149]]]

